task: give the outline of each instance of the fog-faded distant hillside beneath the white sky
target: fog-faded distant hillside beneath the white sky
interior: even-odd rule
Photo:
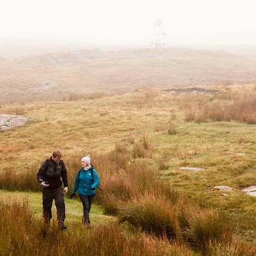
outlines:
[[[188,48],[79,50],[0,61],[0,100],[256,79],[256,61]]]

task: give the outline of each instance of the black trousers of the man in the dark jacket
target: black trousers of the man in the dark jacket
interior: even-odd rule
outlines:
[[[62,187],[43,188],[43,217],[49,221],[52,218],[52,201],[55,201],[58,221],[65,220],[65,202]]]

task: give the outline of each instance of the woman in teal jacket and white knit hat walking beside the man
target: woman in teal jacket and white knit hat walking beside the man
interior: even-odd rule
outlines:
[[[90,228],[90,207],[94,196],[96,194],[96,188],[100,179],[96,170],[90,164],[90,156],[84,156],[81,159],[81,170],[77,172],[75,185],[73,187],[73,193],[70,196],[70,199],[76,197],[76,191],[79,191],[79,197],[82,201],[82,207],[84,208],[84,215],[82,216],[82,224],[86,225],[87,228]]]

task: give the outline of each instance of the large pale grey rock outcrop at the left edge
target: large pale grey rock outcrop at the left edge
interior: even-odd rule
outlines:
[[[4,115],[0,114],[0,130],[9,130],[15,126],[22,126],[27,123],[29,118],[23,115]]]

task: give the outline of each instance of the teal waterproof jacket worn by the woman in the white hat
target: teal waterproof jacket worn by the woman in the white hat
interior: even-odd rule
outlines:
[[[93,171],[93,176],[91,174],[91,170]],[[84,170],[84,168],[81,168],[81,170],[76,174],[76,181],[73,188],[73,193],[76,193],[78,189],[80,195],[95,195],[96,188],[98,187],[99,182],[100,178],[98,177],[98,174],[93,167],[90,167],[86,171]]]

